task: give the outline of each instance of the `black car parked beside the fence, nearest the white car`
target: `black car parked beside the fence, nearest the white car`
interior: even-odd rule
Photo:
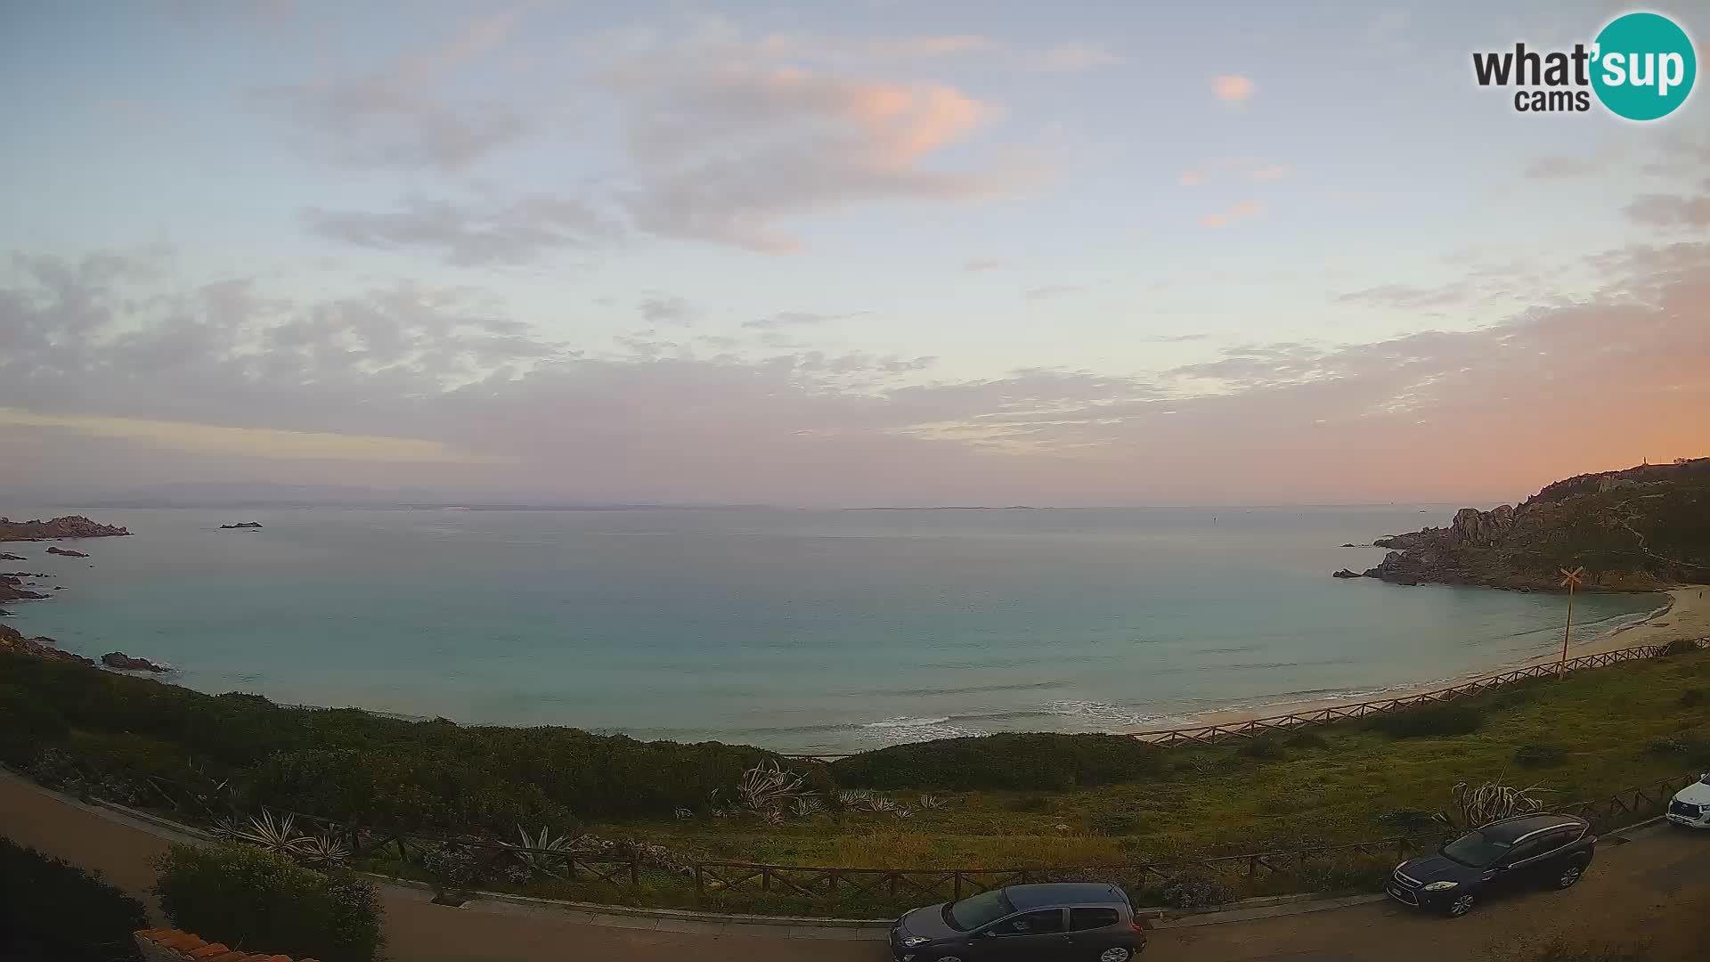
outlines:
[[[1435,856],[1395,866],[1390,899],[1452,917],[1488,895],[1515,888],[1570,888],[1585,875],[1597,835],[1575,815],[1520,815],[1448,842]]]

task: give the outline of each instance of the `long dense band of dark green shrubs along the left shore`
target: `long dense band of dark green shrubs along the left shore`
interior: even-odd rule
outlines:
[[[79,664],[0,657],[0,717],[39,731],[12,736],[12,755],[53,746],[133,784],[154,777],[202,794],[224,782],[221,791],[248,806],[510,837],[518,823],[568,830],[575,817],[699,810],[715,789],[728,798],[742,772],[764,760],[800,770],[821,798],[836,791],[824,765],[744,745],[280,707],[256,695],[203,695]],[[0,733],[14,727],[22,724]]]

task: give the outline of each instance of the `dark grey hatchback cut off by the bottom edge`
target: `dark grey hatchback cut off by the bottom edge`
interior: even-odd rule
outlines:
[[[1129,895],[1100,882],[994,888],[891,928],[898,962],[1129,962],[1142,948]]]

